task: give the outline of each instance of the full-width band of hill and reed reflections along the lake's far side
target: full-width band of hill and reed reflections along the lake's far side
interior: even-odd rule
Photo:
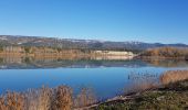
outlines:
[[[95,59],[90,57],[0,57],[0,68],[56,68],[56,67],[188,67],[188,62],[171,59]]]

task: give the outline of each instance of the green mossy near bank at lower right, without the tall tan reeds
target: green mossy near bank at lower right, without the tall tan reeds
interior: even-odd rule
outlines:
[[[168,96],[169,94],[169,96]],[[182,97],[184,96],[184,97]],[[132,95],[125,95],[125,96],[117,96],[111,99],[107,99],[104,102],[100,102],[96,105],[92,105],[88,107],[84,108],[76,108],[74,110],[136,110],[136,109],[174,109],[176,105],[171,108],[170,106],[173,105],[166,105],[164,106],[159,101],[169,101],[174,102],[175,100],[168,99],[168,98],[175,98],[178,99],[181,97],[180,101],[184,101],[185,103],[176,103],[176,105],[181,105],[178,109],[185,109],[188,108],[188,79],[168,84],[158,88],[153,88],[153,89],[147,89],[144,91],[135,92]],[[177,97],[177,98],[176,98]],[[143,98],[143,99],[142,99]],[[152,99],[152,100],[146,100],[145,98]],[[137,102],[139,100],[139,102]],[[186,101],[185,101],[186,100]],[[150,101],[150,102],[149,102]],[[156,101],[156,103],[153,103],[153,101]],[[145,105],[145,103],[149,105]],[[179,100],[178,100],[179,102]],[[136,107],[138,105],[138,107]],[[160,105],[163,105],[160,107]],[[134,107],[135,106],[135,107]],[[168,107],[169,106],[169,107]]]

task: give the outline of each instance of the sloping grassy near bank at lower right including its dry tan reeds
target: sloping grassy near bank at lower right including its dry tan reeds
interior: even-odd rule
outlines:
[[[167,72],[161,75],[163,86],[156,89],[123,96],[94,106],[93,110],[187,110],[188,72]]]

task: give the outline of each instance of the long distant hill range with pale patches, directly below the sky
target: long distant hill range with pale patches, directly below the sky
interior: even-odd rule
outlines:
[[[112,41],[73,40],[73,38],[55,38],[20,35],[0,35],[0,45],[50,46],[60,48],[87,48],[87,50],[130,50],[130,51],[144,51],[147,48],[164,46],[188,47],[188,45],[186,44],[112,42]]]

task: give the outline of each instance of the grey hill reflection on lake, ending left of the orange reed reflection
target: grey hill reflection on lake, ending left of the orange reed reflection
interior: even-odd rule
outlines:
[[[56,68],[56,67],[143,67],[147,64],[137,59],[60,59],[60,58],[20,58],[1,57],[1,68]]]

